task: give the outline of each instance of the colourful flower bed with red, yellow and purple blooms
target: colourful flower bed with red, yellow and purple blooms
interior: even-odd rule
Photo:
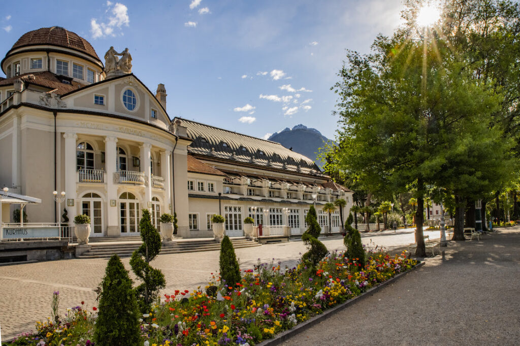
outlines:
[[[311,270],[302,264],[281,269],[280,264],[259,263],[245,270],[239,283],[220,283],[213,276],[205,291],[175,291],[164,295],[142,316],[142,344],[253,345],[292,328],[297,323],[356,297],[417,264],[405,252],[391,257],[383,252],[367,255],[360,270],[356,259],[334,252]],[[34,334],[19,337],[14,345],[93,345],[93,311],[75,307],[58,323],[38,323]]]

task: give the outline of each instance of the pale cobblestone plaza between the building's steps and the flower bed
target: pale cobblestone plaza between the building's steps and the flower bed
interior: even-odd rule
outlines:
[[[439,231],[429,232],[431,238],[439,237]],[[362,234],[363,243],[393,248],[414,243],[412,229],[370,232]],[[344,249],[339,236],[320,238],[329,250]],[[236,249],[242,269],[252,268],[258,258],[262,262],[282,262],[282,267],[295,265],[300,253],[305,252],[301,241],[263,245],[261,247]],[[186,254],[159,255],[151,262],[163,271],[166,288],[163,293],[175,289],[204,287],[211,273],[218,271],[218,251],[189,252]],[[130,270],[129,258],[122,259]],[[88,309],[95,303],[96,288],[105,274],[107,259],[69,259],[48,262],[6,265],[0,267],[0,328],[2,339],[15,337],[23,331],[34,329],[36,321],[51,316],[50,302],[53,292],[60,292],[60,310],[75,307],[81,301]],[[131,272],[132,276],[132,272]],[[132,276],[135,278],[134,276]]]

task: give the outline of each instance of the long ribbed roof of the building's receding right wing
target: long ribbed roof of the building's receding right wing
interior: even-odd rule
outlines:
[[[193,154],[326,177],[313,160],[280,143],[183,118],[175,118],[173,122],[176,119],[181,121],[180,126],[187,128],[188,137],[193,141],[188,150]]]

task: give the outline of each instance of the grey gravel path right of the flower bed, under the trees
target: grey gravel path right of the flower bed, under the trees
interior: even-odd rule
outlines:
[[[444,256],[283,343],[461,344],[520,344],[520,229],[449,242]]]

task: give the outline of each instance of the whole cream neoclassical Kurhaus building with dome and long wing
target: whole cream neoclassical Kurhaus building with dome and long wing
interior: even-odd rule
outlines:
[[[112,47],[105,64],[82,37],[54,26],[22,35],[1,62],[0,187],[42,199],[29,222],[61,222],[64,210],[91,218],[92,236],[139,234],[139,216],[176,212],[179,235],[211,236],[210,217],[304,230],[304,216],[352,191],[330,181],[307,157],[279,143],[166,113],[166,91],[151,92],[132,58]],[[53,191],[66,192],[57,210]],[[316,198],[312,198],[312,195]],[[3,221],[12,221],[3,206]],[[333,231],[339,230],[337,212]],[[268,231],[268,229],[267,229]]]

